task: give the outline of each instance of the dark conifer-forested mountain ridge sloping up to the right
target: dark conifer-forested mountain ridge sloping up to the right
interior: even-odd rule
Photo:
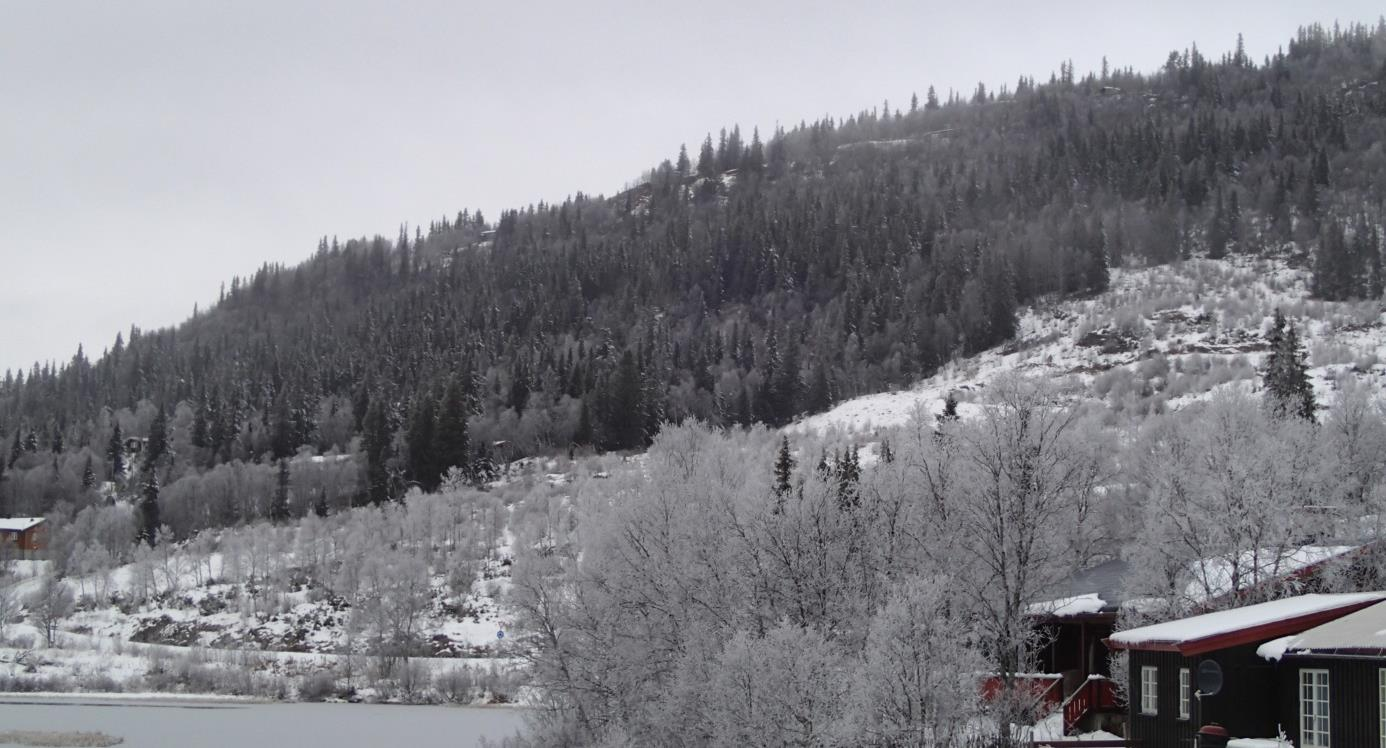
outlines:
[[[1317,295],[1376,298],[1383,115],[1386,22],[1308,26],[1263,61],[926,89],[732,127],[610,198],[324,238],[175,328],[7,374],[0,513],[107,479],[155,507],[213,477],[283,490],[295,456],[349,456],[295,460],[317,477],[292,507],[227,500],[186,532],[643,447],[687,417],[779,425],[1001,344],[1020,305],[1119,265],[1289,253]]]

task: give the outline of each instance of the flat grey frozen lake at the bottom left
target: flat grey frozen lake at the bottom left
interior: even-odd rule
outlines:
[[[122,748],[198,745],[474,747],[524,726],[524,709],[376,704],[236,704],[0,695],[3,730],[93,730]]]

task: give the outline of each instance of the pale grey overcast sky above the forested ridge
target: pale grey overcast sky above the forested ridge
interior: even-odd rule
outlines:
[[[1157,68],[1374,1],[0,0],[0,370],[93,357],[324,234],[618,190],[740,123]]]

